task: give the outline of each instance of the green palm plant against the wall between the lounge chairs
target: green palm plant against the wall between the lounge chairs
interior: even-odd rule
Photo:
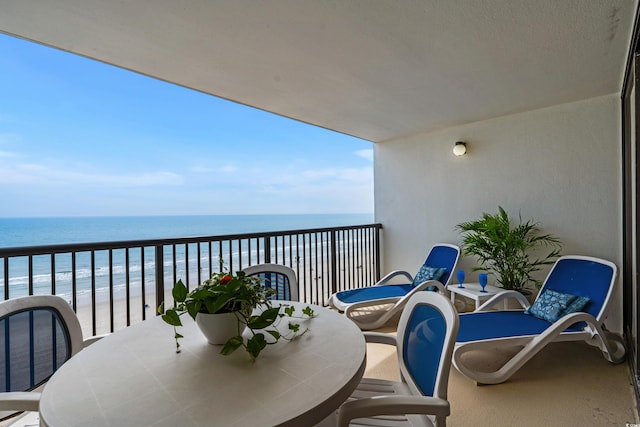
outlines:
[[[542,282],[532,274],[544,265],[550,265],[560,256],[562,243],[551,234],[540,234],[539,224],[522,221],[512,224],[507,212],[498,206],[497,214],[483,213],[480,219],[463,222],[456,226],[462,233],[465,255],[475,255],[480,267],[495,275],[504,289],[525,295],[531,293],[531,284],[539,289]],[[534,257],[538,249],[545,249]]]

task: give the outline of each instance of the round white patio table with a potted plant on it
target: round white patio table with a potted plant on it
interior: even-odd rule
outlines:
[[[277,302],[280,303],[280,302]],[[345,316],[309,305],[309,331],[267,346],[255,362],[239,348],[229,356],[182,316],[181,353],[173,327],[145,320],[106,336],[65,363],[46,384],[41,425],[308,426],[335,411],[366,365],[360,329]],[[276,302],[274,302],[274,305]],[[287,328],[283,318],[280,329]]]

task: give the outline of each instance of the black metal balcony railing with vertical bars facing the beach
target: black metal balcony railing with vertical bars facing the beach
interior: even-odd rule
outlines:
[[[113,332],[157,313],[182,279],[190,288],[218,271],[264,262],[296,272],[300,300],[326,305],[338,290],[380,278],[380,224],[222,236],[0,248],[4,299],[68,299],[86,335]]]

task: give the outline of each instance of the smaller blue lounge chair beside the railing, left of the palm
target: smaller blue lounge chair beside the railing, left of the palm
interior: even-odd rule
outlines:
[[[445,286],[459,257],[458,246],[436,244],[415,277],[406,271],[392,271],[374,286],[336,292],[329,298],[329,304],[344,311],[361,329],[379,328],[399,313],[416,292],[430,290],[445,293]],[[402,276],[404,283],[389,283],[398,276]]]

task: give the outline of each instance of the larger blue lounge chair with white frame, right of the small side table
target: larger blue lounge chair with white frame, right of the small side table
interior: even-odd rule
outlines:
[[[577,255],[559,258],[533,305],[518,292],[504,291],[475,312],[460,315],[454,366],[479,384],[498,384],[507,381],[548,343],[558,341],[584,341],[599,347],[609,362],[622,362],[622,339],[604,327],[616,279],[617,268],[612,262]],[[493,309],[510,298],[516,299],[522,309]],[[467,352],[514,346],[522,349],[493,372],[477,371],[465,364]]]

